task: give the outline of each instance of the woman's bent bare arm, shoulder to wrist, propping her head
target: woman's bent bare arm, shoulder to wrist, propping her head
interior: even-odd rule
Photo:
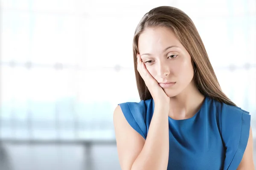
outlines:
[[[138,113],[139,114],[139,113]],[[168,111],[155,106],[145,140],[126,121],[120,106],[113,114],[122,170],[166,170],[169,159]]]

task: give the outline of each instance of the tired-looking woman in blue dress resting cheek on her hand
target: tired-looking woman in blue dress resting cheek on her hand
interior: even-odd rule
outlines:
[[[221,91],[183,11],[146,13],[133,54],[141,101],[113,114],[122,170],[254,170],[250,115]]]

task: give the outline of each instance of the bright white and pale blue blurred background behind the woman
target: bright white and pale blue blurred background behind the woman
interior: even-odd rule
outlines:
[[[140,101],[134,30],[163,5],[194,21],[256,148],[256,0],[1,0],[0,170],[120,170],[112,115]]]

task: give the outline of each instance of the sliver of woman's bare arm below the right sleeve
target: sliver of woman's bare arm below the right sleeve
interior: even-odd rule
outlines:
[[[239,164],[237,170],[255,170],[253,164],[253,134],[252,128],[250,127],[249,139],[247,142],[244,156]]]

